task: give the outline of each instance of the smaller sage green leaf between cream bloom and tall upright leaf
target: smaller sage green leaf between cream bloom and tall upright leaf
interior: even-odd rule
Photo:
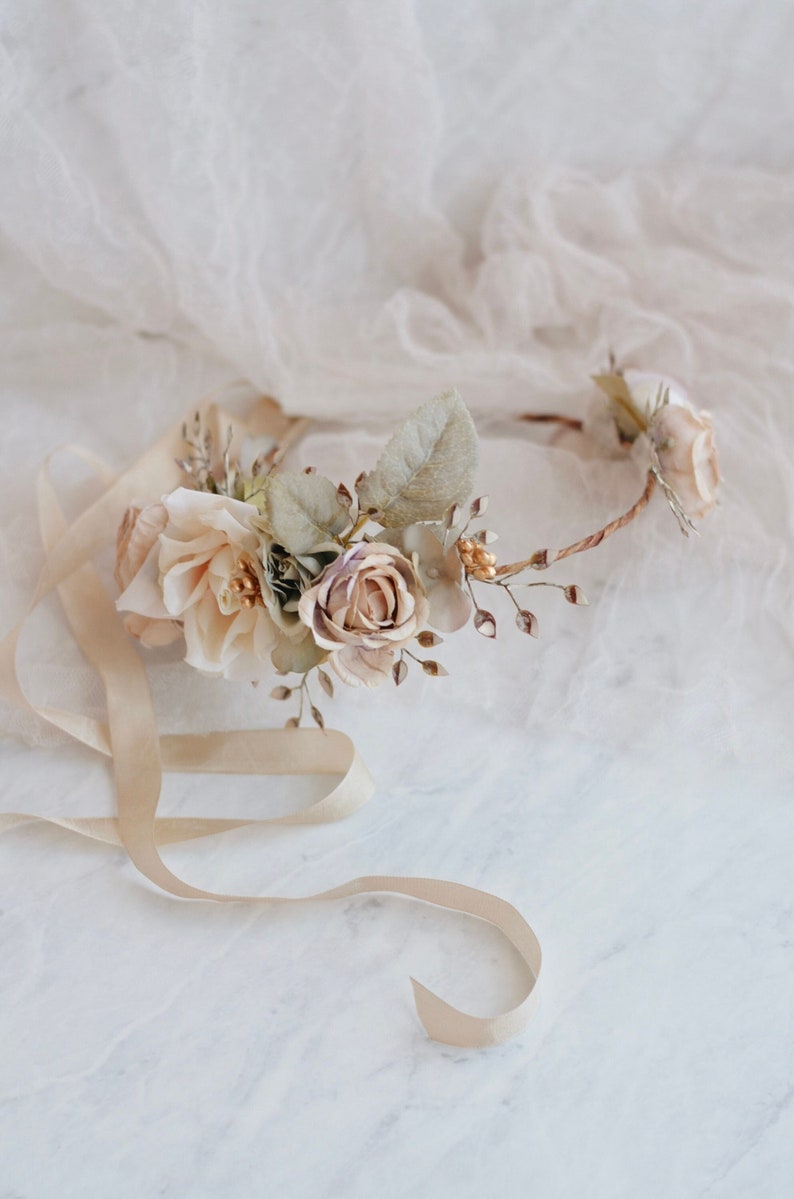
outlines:
[[[273,538],[290,554],[308,554],[350,524],[330,478],[291,470],[273,471],[265,480],[263,516]]]

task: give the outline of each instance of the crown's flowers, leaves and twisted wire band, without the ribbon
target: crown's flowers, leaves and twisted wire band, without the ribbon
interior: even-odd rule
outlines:
[[[522,633],[537,635],[517,589],[558,588],[572,604],[588,601],[575,583],[525,576],[597,546],[633,519],[654,488],[663,490],[684,532],[714,506],[718,469],[711,421],[675,385],[612,369],[596,376],[616,444],[640,442],[648,476],[632,508],[564,549],[498,561],[498,535],[481,525],[487,496],[470,500],[477,464],[473,420],[456,392],[419,408],[395,432],[372,471],[353,488],[313,469],[281,465],[269,439],[223,445],[199,414],[185,426],[179,459],[184,486],[130,507],[118,537],[116,582],[126,627],[145,645],[184,638],[186,661],[227,677],[258,680],[270,667],[299,675],[275,699],[296,695],[299,712],[320,727],[314,676],[327,697],[332,676],[351,686],[404,681],[411,665],[433,677],[446,670],[428,650],[473,620],[497,633],[486,589],[503,592]],[[583,422],[525,416],[582,429]]]

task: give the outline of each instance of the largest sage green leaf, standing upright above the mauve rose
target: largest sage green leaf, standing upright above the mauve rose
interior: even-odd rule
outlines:
[[[440,520],[471,494],[477,434],[456,391],[428,400],[395,432],[374,470],[356,482],[365,512],[386,529]]]

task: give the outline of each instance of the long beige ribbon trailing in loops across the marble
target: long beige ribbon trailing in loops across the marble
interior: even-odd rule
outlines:
[[[281,444],[281,453],[305,427],[284,417],[273,400],[263,399],[242,426],[211,408],[206,420],[230,424],[235,438],[269,434]],[[339,820],[367,802],[373,793],[369,773],[353,742],[342,733],[320,729],[235,730],[207,735],[161,736],[155,719],[149,683],[140,656],[127,635],[115,604],[106,592],[91,558],[115,540],[130,504],[160,496],[179,486],[175,458],[181,452],[181,426],[172,429],[130,470],[110,481],[107,470],[78,447],[68,447],[103,475],[102,496],[72,525],[64,518],[58,494],[44,464],[38,478],[38,510],[47,552],[44,568],[30,611],[58,589],[66,617],[88,661],[100,674],[107,695],[108,723],[32,704],[17,673],[17,646],[26,617],[0,641],[0,695],[66,731],[91,749],[110,758],[115,777],[118,817],[37,817],[0,814],[0,832],[30,821],[43,821],[95,840],[122,845],[136,867],[170,894],[185,899],[219,903],[295,904],[342,899],[356,894],[387,892],[404,894],[439,908],[465,912],[499,928],[528,966],[529,978],[521,1002],[493,1017],[462,1012],[411,978],[416,1012],[435,1041],[462,1048],[482,1048],[506,1041],[522,1031],[537,998],[541,965],[537,938],[523,916],[506,900],[486,891],[440,879],[368,875],[351,879],[315,894],[300,897],[237,896],[205,891],[174,874],[160,855],[160,845],[209,837],[252,825],[317,824]],[[162,771],[338,775],[337,785],[321,800],[295,814],[269,820],[157,817]]]

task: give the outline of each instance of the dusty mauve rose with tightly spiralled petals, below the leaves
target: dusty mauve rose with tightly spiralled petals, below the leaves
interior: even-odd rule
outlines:
[[[427,621],[428,603],[410,559],[383,542],[361,542],[326,566],[299,613],[344,682],[377,687],[395,650]]]

